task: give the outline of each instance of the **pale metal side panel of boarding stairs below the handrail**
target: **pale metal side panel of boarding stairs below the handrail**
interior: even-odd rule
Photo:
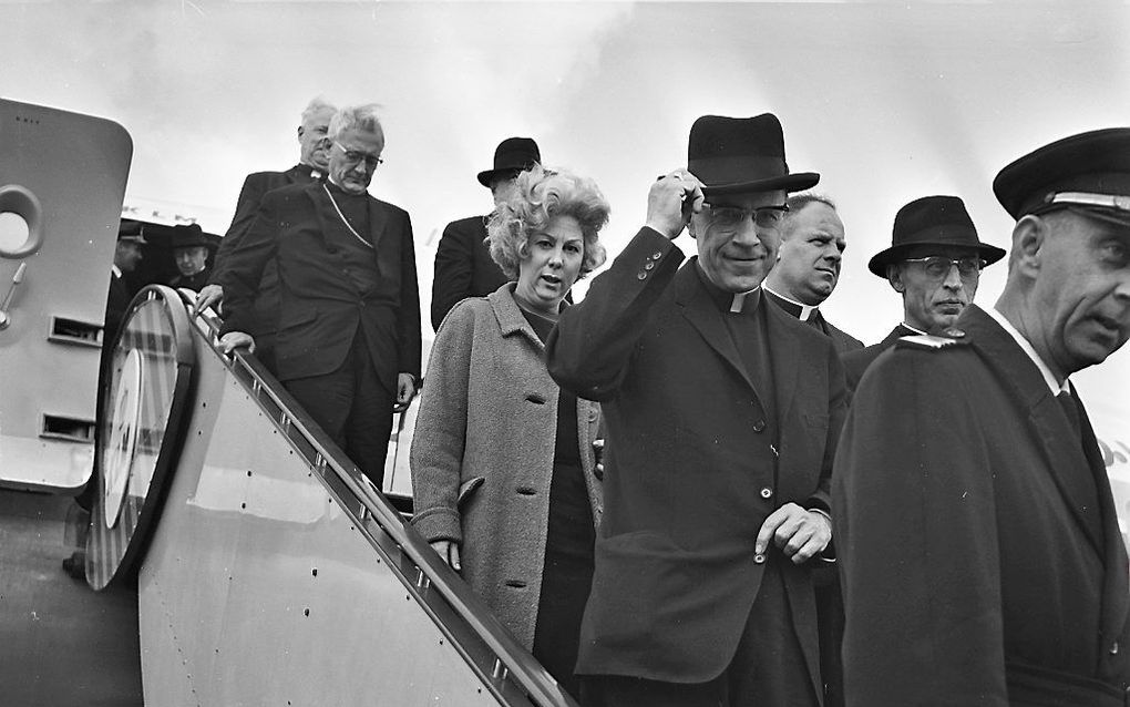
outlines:
[[[139,576],[146,704],[496,705],[210,351]]]

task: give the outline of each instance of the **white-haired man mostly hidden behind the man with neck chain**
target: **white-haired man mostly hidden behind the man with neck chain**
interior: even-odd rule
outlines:
[[[219,308],[224,300],[224,279],[227,258],[240,244],[251,226],[259,204],[268,191],[290,184],[310,183],[325,178],[329,166],[330,143],[327,132],[337,109],[324,98],[313,98],[302,112],[298,124],[298,164],[282,172],[254,172],[243,181],[235,204],[232,225],[220,240],[216,252],[216,267],[211,281],[197,296],[197,311],[208,307]],[[255,298],[255,318],[249,322],[249,334],[255,338],[255,356],[271,372],[275,371],[275,335],[278,330],[279,292],[278,271],[273,264],[263,269]]]

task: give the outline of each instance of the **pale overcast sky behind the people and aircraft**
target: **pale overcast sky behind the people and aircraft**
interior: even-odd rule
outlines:
[[[0,95],[120,122],[134,141],[128,200],[214,232],[247,172],[296,162],[312,96],[381,103],[371,191],[411,214],[425,300],[443,225],[490,206],[475,174],[502,138],[532,136],[547,164],[598,181],[615,253],[651,180],[685,165],[696,117],[774,112],[790,166],[822,173],[846,225],[825,311],[867,342],[902,316],[866,269],[899,206],[958,195],[982,240],[1007,248],[997,171],[1130,123],[1127,2],[0,0]],[[979,302],[1003,269],[986,270]],[[1130,371],[1125,351],[1115,359]]]

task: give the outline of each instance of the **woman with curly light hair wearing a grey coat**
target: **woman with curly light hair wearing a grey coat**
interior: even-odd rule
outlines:
[[[542,342],[565,293],[605,261],[608,210],[592,180],[539,165],[519,175],[488,226],[514,282],[444,320],[411,451],[412,525],[574,696],[600,416],[549,378]]]

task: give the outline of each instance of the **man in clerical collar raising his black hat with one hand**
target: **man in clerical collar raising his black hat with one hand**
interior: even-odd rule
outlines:
[[[760,284],[786,193],[819,175],[789,172],[768,113],[699,118],[688,153],[546,347],[607,416],[582,702],[818,705],[810,568],[829,550],[843,373]],[[688,226],[698,257],[679,267]]]

